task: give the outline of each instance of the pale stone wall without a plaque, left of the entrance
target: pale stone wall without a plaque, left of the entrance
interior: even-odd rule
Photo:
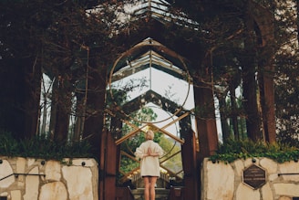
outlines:
[[[8,200],[98,200],[98,163],[0,156],[0,196]]]

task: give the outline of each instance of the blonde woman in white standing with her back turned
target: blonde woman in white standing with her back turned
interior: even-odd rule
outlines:
[[[153,142],[154,132],[146,132],[146,142],[142,142],[136,149],[135,155],[140,161],[140,174],[144,181],[145,200],[155,199],[155,185],[160,177],[159,157],[163,155],[163,150],[157,142]]]

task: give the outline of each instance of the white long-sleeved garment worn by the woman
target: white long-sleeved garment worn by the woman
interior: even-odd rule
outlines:
[[[148,149],[151,153],[158,153],[159,156],[146,156]],[[140,160],[140,175],[141,176],[158,176],[160,177],[160,162],[159,157],[162,156],[164,151],[157,142],[151,140],[142,142],[136,149],[135,156]]]

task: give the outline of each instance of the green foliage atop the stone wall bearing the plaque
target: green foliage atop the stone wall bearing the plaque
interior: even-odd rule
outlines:
[[[277,163],[298,161],[299,149],[280,142],[264,143],[251,140],[229,140],[220,144],[216,153],[211,155],[209,159],[212,162],[232,163],[238,159],[245,160],[254,157],[270,158]]]

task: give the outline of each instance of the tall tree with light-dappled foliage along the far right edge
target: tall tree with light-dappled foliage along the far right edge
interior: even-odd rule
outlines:
[[[277,4],[275,38],[281,44],[276,49],[275,103],[276,132],[281,142],[299,146],[299,66],[298,66],[298,1]],[[296,10],[295,10],[296,9]]]

